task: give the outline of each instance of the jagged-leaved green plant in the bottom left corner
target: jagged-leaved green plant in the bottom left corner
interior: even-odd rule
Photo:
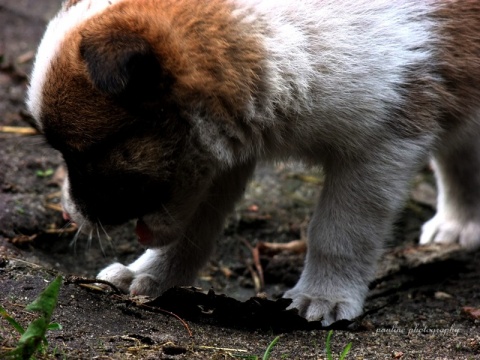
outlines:
[[[26,310],[39,313],[40,317],[33,320],[26,330],[0,306],[0,315],[21,334],[17,347],[3,354],[6,359],[30,359],[37,351],[46,353],[48,342],[45,334],[48,330],[62,329],[60,324],[50,322],[53,310],[57,306],[61,285],[62,277],[58,276],[32,303],[27,305]]]

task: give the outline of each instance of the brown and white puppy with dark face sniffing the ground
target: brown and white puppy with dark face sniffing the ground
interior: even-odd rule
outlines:
[[[28,108],[84,229],[137,219],[145,254],[98,278],[191,284],[260,159],[321,164],[297,285],[308,320],[361,314],[409,182],[433,155],[420,242],[480,246],[480,1],[70,0]]]

